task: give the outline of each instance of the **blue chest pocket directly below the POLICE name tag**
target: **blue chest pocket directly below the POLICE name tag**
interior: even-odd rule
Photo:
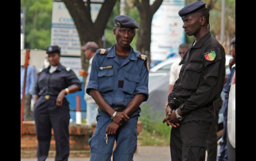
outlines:
[[[98,84],[99,84],[100,92],[114,90],[113,74],[114,74],[113,69],[105,69],[105,70],[98,71]]]

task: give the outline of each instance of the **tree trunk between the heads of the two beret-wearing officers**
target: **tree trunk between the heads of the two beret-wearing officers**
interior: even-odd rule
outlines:
[[[151,43],[151,23],[153,15],[158,10],[163,0],[155,0],[150,5],[149,0],[133,0],[140,13],[140,26],[138,30],[137,50],[148,56],[150,62],[150,43]]]

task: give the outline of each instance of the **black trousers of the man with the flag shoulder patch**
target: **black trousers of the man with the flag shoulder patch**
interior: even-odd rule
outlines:
[[[210,126],[206,121],[188,121],[172,127],[172,161],[204,161]]]

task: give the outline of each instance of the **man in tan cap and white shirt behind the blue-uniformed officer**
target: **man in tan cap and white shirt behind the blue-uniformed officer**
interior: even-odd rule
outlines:
[[[91,63],[93,56],[99,46],[95,42],[87,42],[84,46],[81,47],[84,51],[84,54],[87,58],[89,58],[89,66],[88,66],[88,75],[86,77],[86,84],[84,87],[84,101],[86,102],[86,124],[91,125],[92,122],[96,121],[96,116],[98,115],[98,105],[95,103],[93,98],[86,93],[86,87],[89,82],[90,72],[91,72]]]

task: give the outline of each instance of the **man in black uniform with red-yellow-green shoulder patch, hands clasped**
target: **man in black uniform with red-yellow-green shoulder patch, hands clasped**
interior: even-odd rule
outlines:
[[[207,136],[214,119],[213,101],[225,78],[225,51],[209,32],[209,10],[197,1],[179,11],[188,36],[195,40],[180,62],[183,64],[168,96],[166,118],[172,125],[172,161],[204,161]]]

